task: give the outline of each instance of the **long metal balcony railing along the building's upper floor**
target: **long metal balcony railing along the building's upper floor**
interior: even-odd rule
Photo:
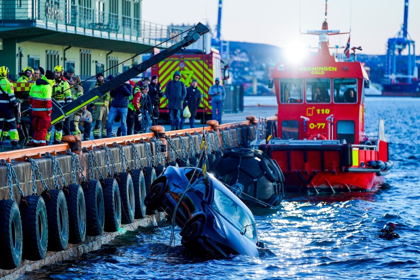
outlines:
[[[0,0],[0,26],[34,26],[149,45],[158,44],[182,32],[181,29],[139,18],[67,4],[63,0]],[[179,38],[175,38],[167,45],[178,41]]]

